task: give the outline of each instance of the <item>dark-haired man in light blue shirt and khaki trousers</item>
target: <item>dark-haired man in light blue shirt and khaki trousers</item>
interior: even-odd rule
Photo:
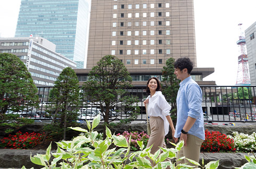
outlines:
[[[199,162],[200,148],[204,140],[202,90],[190,77],[193,63],[189,58],[177,59],[174,68],[174,74],[181,80],[177,95],[177,125],[174,134],[175,138],[184,140],[179,158],[185,156]],[[177,162],[180,163],[196,166],[186,159]]]

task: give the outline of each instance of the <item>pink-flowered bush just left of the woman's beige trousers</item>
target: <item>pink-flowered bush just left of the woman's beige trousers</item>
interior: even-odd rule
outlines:
[[[139,146],[137,144],[137,141],[143,141],[144,146],[145,147],[147,146],[149,136],[144,131],[142,131],[141,133],[138,133],[137,131],[134,131],[134,132],[124,131],[122,135],[125,137],[125,139],[127,141],[129,141],[129,139],[131,137],[130,146],[131,146],[131,149],[133,151],[139,150]],[[117,134],[117,136],[120,136],[120,133]]]

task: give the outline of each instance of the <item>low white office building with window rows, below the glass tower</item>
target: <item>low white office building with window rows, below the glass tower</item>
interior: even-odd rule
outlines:
[[[65,67],[76,63],[55,52],[56,45],[38,38],[0,38],[0,53],[18,56],[28,68],[36,86],[53,86]]]

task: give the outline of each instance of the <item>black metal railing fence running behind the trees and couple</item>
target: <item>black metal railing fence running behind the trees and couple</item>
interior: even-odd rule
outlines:
[[[200,86],[203,93],[202,110],[206,123],[213,122],[256,122],[255,120],[255,86]],[[36,120],[51,120],[53,103],[49,102],[49,93],[53,87],[38,87],[39,108],[29,107],[27,111],[17,112],[22,117]],[[143,101],[147,98],[145,86],[137,86],[127,89],[130,95],[137,96],[138,106],[141,108],[137,119],[146,120]],[[72,108],[72,107],[71,107]],[[79,107],[78,122],[85,119],[92,120],[95,115],[102,114],[99,105],[83,102]],[[122,110],[116,106],[110,112],[109,120],[127,119],[130,111]],[[103,119],[103,117],[102,117]]]

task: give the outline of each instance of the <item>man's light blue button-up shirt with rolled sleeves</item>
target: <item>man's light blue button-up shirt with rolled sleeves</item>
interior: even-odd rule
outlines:
[[[188,116],[195,118],[194,125],[188,134],[204,140],[204,118],[202,110],[202,90],[189,76],[180,82],[177,95],[177,124],[174,137],[179,138],[181,129],[187,122]]]

